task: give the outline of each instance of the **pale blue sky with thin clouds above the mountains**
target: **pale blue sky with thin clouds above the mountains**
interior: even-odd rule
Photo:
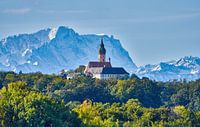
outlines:
[[[113,35],[137,66],[200,57],[200,0],[0,0],[0,40],[63,25]]]

